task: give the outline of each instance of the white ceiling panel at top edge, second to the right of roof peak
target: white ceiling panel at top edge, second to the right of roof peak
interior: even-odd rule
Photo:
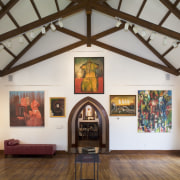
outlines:
[[[127,14],[131,14],[133,16],[136,16],[141,4],[142,4],[143,0],[125,0],[122,1],[121,4],[121,11],[127,13]]]

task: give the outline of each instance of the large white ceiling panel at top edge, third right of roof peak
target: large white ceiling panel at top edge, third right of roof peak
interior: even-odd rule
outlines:
[[[159,24],[168,9],[159,0],[149,0],[140,15],[141,19]]]

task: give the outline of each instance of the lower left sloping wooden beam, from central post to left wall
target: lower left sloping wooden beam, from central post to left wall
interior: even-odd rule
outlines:
[[[79,47],[79,46],[82,46],[82,45],[84,45],[85,43],[86,43],[85,41],[78,41],[78,42],[73,43],[73,44],[70,44],[70,45],[68,45],[68,46],[66,46],[66,47],[63,47],[63,48],[60,48],[60,49],[55,50],[55,51],[53,51],[53,52],[50,52],[50,53],[48,53],[48,54],[45,54],[45,55],[43,55],[43,56],[34,58],[34,59],[32,59],[32,60],[30,60],[30,61],[28,61],[28,62],[25,62],[25,63],[22,63],[22,64],[20,64],[20,65],[17,65],[17,66],[15,66],[15,67],[11,68],[11,69],[3,70],[3,71],[0,73],[0,77],[1,77],[1,76],[5,76],[5,75],[8,75],[8,74],[11,74],[11,73],[16,72],[16,71],[19,71],[19,70],[24,69],[24,68],[26,68],[26,67],[30,67],[30,66],[32,66],[32,65],[35,65],[35,64],[40,63],[40,62],[42,62],[42,61],[45,61],[45,60],[47,60],[47,59],[49,59],[49,58],[51,58],[51,57],[57,56],[57,55],[59,55],[59,54],[65,53],[65,52],[70,51],[70,50],[72,50],[72,49],[74,49],[74,48],[77,48],[77,47]]]

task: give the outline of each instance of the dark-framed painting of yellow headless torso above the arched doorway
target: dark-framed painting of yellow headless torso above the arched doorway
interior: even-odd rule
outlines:
[[[74,58],[74,93],[104,94],[104,57]]]

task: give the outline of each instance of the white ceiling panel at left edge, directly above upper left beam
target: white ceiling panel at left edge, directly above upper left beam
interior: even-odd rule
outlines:
[[[14,23],[10,20],[10,18],[5,15],[0,19],[0,34],[3,34],[7,31],[16,29]]]

